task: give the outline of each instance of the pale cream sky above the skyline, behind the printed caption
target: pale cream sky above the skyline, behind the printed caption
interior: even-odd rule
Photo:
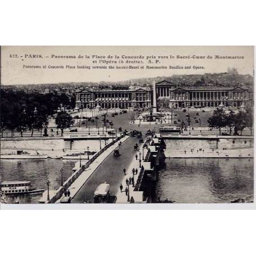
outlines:
[[[152,78],[173,74],[204,74],[226,72],[236,68],[239,74],[253,75],[254,52],[252,46],[2,46],[1,47],[1,84],[44,84],[60,82],[118,82],[135,78]],[[33,56],[34,55],[34,56]],[[39,57],[41,55],[42,57]],[[55,56],[76,56],[76,59],[55,59]],[[78,56],[84,56],[79,59]],[[105,59],[92,58],[92,55],[105,56]],[[108,55],[113,59],[107,58]],[[120,59],[115,59],[115,55]],[[125,56],[143,56],[144,59],[125,59]],[[177,59],[177,55],[185,59]],[[207,56],[213,59],[208,59]],[[219,56],[244,56],[244,59],[214,59]],[[85,56],[89,56],[86,59]],[[155,56],[156,59],[151,59]],[[160,57],[159,59],[159,56]],[[173,59],[170,58],[173,56]],[[188,59],[186,56],[190,56]],[[192,59],[192,56],[205,56]],[[148,58],[148,59],[147,59]],[[166,59],[168,58],[168,59]],[[109,65],[129,66],[125,63],[100,64],[103,61],[142,61],[139,69],[109,69]],[[151,63],[149,63],[149,60]],[[159,61],[159,62],[156,62]],[[97,61],[93,63],[92,61]],[[25,66],[41,68],[25,68]],[[43,66],[46,65],[44,69]],[[50,69],[48,66],[63,65],[64,69]],[[67,69],[66,65],[91,66],[91,69]],[[107,69],[92,69],[92,66],[106,65]],[[168,69],[142,69],[141,66],[167,66]],[[183,69],[169,69],[169,66],[183,66]],[[185,69],[190,67],[190,69]],[[203,66],[204,69],[193,67]]]

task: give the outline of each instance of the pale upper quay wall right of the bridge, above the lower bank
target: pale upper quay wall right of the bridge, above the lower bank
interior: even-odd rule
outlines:
[[[216,138],[202,140],[201,138],[168,138],[164,140],[166,151],[197,150],[197,149],[248,149],[253,147],[253,138]]]

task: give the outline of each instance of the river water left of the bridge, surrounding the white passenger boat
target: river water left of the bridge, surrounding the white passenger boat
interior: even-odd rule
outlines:
[[[0,161],[0,177],[2,181],[31,181],[32,188],[47,189],[47,180],[50,181],[50,190],[61,186],[61,172],[63,168],[64,182],[73,173],[75,160],[61,159],[14,159]],[[37,203],[41,194],[7,196],[8,203]]]

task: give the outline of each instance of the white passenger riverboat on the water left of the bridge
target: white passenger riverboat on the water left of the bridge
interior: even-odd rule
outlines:
[[[3,181],[0,189],[5,195],[26,195],[37,194],[44,191],[44,189],[31,188],[30,181]]]

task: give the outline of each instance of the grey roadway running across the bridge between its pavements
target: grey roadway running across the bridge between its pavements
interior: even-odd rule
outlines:
[[[119,152],[121,155],[119,157],[115,158],[113,153],[111,153],[95,170],[88,181],[84,183],[73,197],[71,203],[84,203],[84,201],[93,203],[96,187],[105,181],[110,184],[110,194],[116,195],[124,176],[123,169],[128,169],[136,154],[133,149],[136,142],[136,138],[130,137],[120,147]]]

